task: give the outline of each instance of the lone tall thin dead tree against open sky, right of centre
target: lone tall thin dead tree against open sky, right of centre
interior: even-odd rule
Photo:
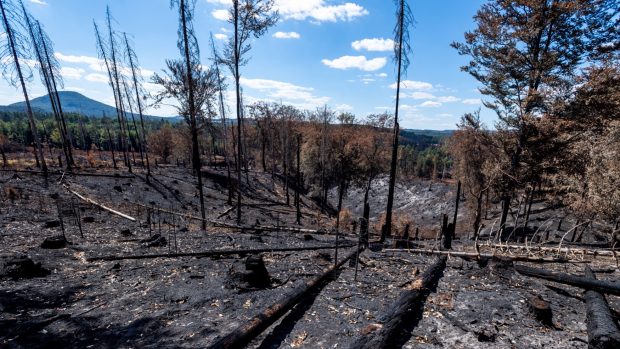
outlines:
[[[413,25],[413,15],[406,0],[397,0],[396,27],[394,28],[394,60],[397,62],[396,73],[396,107],[394,110],[394,138],[392,141],[392,162],[390,164],[390,183],[388,200],[385,209],[385,229],[381,233],[381,240],[385,240],[392,233],[392,208],[394,206],[394,187],[396,185],[396,166],[398,161],[398,107],[400,103],[401,78],[409,67],[411,54],[409,29]]]

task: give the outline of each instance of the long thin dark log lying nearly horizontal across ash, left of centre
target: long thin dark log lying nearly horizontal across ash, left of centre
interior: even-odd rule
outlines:
[[[354,244],[340,244],[339,248],[354,247]],[[254,249],[234,249],[234,250],[209,250],[202,252],[187,252],[187,253],[158,253],[158,254],[145,254],[145,255],[128,255],[128,256],[100,256],[90,257],[86,260],[89,262],[94,261],[120,261],[126,259],[153,259],[153,258],[179,258],[179,257],[211,257],[211,256],[227,256],[233,254],[257,254],[257,253],[270,253],[270,252],[293,252],[293,251],[318,251],[335,249],[335,245],[329,246],[305,246],[305,247],[274,247],[274,248],[254,248]]]

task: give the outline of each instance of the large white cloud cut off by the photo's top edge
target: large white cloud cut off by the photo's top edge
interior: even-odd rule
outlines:
[[[325,0],[276,0],[275,8],[284,19],[310,18],[317,22],[352,21],[369,13],[356,3],[327,5]]]

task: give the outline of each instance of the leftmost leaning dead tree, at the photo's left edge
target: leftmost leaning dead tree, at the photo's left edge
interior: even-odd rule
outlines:
[[[24,59],[30,58],[28,54],[28,39],[19,30],[23,28],[24,18],[20,15],[19,8],[13,0],[1,0],[0,12],[2,14],[2,26],[6,33],[2,39],[2,41],[5,42],[0,42],[0,70],[2,70],[2,76],[11,86],[17,87],[19,83],[22,89],[24,101],[26,103],[28,122],[30,124],[30,132],[32,132],[36,148],[35,159],[37,166],[40,167],[44,173],[47,173],[47,164],[43,156],[43,147],[41,146],[37,126],[34,122],[34,113],[30,105],[28,89],[26,88],[26,80],[32,75],[24,75],[24,69],[27,69],[27,67],[22,66],[21,63]]]

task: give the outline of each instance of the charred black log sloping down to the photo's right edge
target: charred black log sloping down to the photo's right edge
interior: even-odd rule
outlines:
[[[604,294],[620,296],[620,282],[617,281],[593,280],[582,276],[532,268],[519,264],[515,264],[515,270],[519,272],[519,274],[526,276],[533,276],[586,290],[593,290]]]

